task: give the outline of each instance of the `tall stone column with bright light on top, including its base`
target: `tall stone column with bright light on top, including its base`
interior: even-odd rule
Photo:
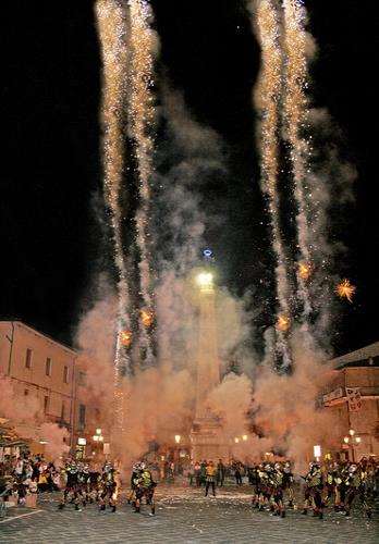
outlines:
[[[207,403],[209,393],[220,384],[213,275],[205,270],[197,275],[196,281],[199,287],[199,326],[196,408],[191,432],[192,457],[194,460],[227,459],[229,448],[224,444],[222,425]]]

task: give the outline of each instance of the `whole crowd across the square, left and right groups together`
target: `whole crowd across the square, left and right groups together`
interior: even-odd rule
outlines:
[[[150,515],[155,515],[155,473],[159,474],[156,467],[145,461],[132,469],[126,500],[136,514],[145,502]],[[359,462],[311,462],[304,475],[295,474],[290,461],[244,465],[233,459],[228,463],[222,459],[203,460],[191,465],[187,477],[191,486],[204,486],[205,496],[216,496],[217,487],[222,487],[227,479],[236,485],[244,481],[253,489],[254,508],[282,518],[290,508],[303,515],[311,511],[319,519],[326,508],[350,516],[358,502],[364,515],[370,518],[375,496],[379,494],[379,465],[372,458]],[[109,461],[100,466],[68,458],[57,468],[41,455],[24,454],[19,458],[8,456],[0,462],[0,495],[5,499],[11,496],[19,504],[37,493],[60,491],[61,510],[68,505],[82,510],[87,504],[97,504],[100,511],[108,506],[114,512],[120,487],[120,470]]]

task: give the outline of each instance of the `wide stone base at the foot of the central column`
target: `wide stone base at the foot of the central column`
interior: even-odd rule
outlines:
[[[192,459],[196,461],[219,459],[229,461],[230,446],[224,443],[221,424],[213,418],[198,418],[191,431]]]

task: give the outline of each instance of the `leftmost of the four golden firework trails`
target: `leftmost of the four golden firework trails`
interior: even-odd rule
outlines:
[[[124,171],[124,71],[127,65],[126,17],[121,4],[115,0],[98,0],[96,4],[98,33],[102,52],[102,125],[103,125],[103,185],[110,212],[114,262],[118,269],[118,339],[114,358],[115,420],[122,426],[122,373],[130,369],[127,351],[121,343],[123,330],[131,326],[129,307],[129,279],[122,244],[119,203]]]

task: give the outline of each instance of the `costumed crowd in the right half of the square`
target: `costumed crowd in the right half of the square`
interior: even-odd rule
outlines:
[[[235,479],[236,485],[242,485],[245,477],[253,486],[253,507],[282,518],[288,508],[301,508],[303,515],[311,510],[319,519],[327,507],[350,516],[356,502],[362,504],[365,516],[371,518],[372,503],[379,493],[379,465],[367,458],[359,462],[310,462],[305,475],[295,475],[290,461],[249,466],[235,460],[229,465],[221,459],[217,465],[203,461],[190,470],[190,484],[204,485],[206,496],[211,489],[216,496],[216,487],[224,484],[227,475]],[[301,491],[303,502],[297,504]]]

